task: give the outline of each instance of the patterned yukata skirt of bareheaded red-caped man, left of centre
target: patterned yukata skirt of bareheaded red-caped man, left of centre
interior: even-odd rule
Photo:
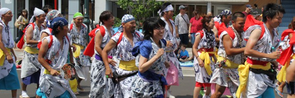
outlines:
[[[94,59],[90,70],[90,98],[111,98],[114,95],[115,85],[112,78],[105,77],[105,71],[104,63]]]

